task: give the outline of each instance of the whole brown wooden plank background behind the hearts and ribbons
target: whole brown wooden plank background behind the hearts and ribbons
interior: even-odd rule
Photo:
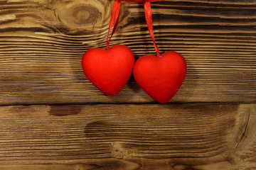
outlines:
[[[256,169],[256,1],[151,3],[161,52],[188,64],[167,104],[133,77],[105,96],[82,73],[112,2],[0,0],[0,169]],[[154,55],[143,4],[122,2],[115,44]]]

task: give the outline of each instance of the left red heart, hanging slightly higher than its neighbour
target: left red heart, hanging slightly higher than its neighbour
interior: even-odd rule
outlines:
[[[132,74],[134,55],[125,45],[104,50],[92,48],[82,56],[82,69],[87,79],[104,94],[116,96]]]

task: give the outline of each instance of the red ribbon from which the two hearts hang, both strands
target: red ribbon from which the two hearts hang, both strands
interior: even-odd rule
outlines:
[[[110,46],[110,40],[111,40],[112,36],[114,35],[114,31],[117,29],[117,23],[118,23],[118,20],[119,20],[121,1],[144,2],[146,25],[149,29],[149,34],[151,36],[151,39],[153,40],[154,47],[155,47],[155,50],[156,50],[156,55],[157,55],[157,57],[159,57],[160,56],[159,47],[157,47],[156,41],[154,40],[154,32],[153,32],[153,23],[152,23],[152,13],[151,13],[150,2],[152,2],[152,1],[162,1],[162,0],[114,0],[114,4],[113,4],[113,7],[112,7],[111,18],[110,18],[110,27],[109,27],[109,30],[108,30],[108,33],[107,33],[107,49]],[[114,24],[114,28],[113,28],[112,34],[109,38],[110,31],[112,29],[113,24]]]

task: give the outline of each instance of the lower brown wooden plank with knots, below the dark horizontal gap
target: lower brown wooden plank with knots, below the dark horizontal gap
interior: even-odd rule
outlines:
[[[256,105],[1,106],[0,169],[255,169]]]

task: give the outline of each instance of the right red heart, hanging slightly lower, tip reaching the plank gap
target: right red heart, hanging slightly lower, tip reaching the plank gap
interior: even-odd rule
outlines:
[[[177,93],[186,77],[186,61],[178,52],[160,57],[144,55],[134,64],[137,84],[154,100],[166,103]]]

